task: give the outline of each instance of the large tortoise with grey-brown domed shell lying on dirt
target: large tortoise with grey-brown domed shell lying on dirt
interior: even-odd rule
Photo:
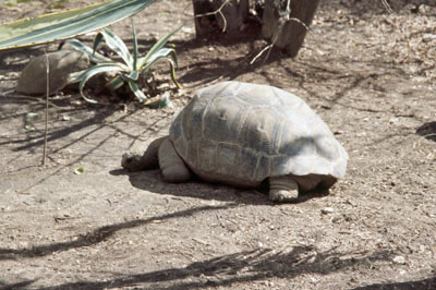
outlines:
[[[327,124],[299,97],[268,85],[222,82],[199,89],[175,116],[169,136],[144,155],[126,153],[130,171],[160,167],[167,182],[192,172],[207,182],[258,188],[269,200],[329,189],[347,169],[348,154]]]

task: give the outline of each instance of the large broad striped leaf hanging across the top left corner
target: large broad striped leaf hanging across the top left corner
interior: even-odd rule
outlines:
[[[156,0],[113,0],[0,25],[0,50],[56,41],[106,27]]]

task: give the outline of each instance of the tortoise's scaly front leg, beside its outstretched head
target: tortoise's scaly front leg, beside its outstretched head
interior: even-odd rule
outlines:
[[[184,182],[191,179],[191,171],[177,154],[170,138],[166,138],[159,147],[159,167],[167,182]]]

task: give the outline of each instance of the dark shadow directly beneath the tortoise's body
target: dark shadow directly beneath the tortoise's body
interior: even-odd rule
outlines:
[[[193,197],[208,201],[234,202],[251,205],[275,205],[268,200],[269,185],[263,183],[259,189],[235,189],[220,183],[207,183],[197,177],[185,183],[168,183],[161,178],[158,169],[130,172],[125,169],[114,169],[109,171],[112,176],[128,176],[132,185],[136,189],[159,194],[169,194],[179,197]],[[325,197],[329,194],[328,190],[315,189],[301,194],[292,202],[300,204],[312,198]]]

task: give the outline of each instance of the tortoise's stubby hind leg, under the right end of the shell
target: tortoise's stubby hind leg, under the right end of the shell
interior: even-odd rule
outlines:
[[[269,178],[269,201],[292,202],[299,198],[299,184],[291,177]]]

